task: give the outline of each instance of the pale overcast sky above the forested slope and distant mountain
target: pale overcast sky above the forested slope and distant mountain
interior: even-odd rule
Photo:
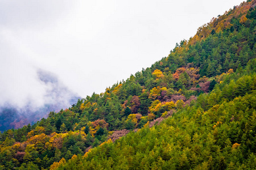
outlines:
[[[0,106],[43,105],[38,70],[81,97],[103,92],[241,2],[2,0]]]

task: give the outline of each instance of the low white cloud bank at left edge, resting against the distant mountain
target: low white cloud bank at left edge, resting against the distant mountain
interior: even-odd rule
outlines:
[[[46,87],[37,80],[36,68],[26,59],[15,57],[15,48],[6,46],[3,40],[5,39],[0,40],[1,49],[5,49],[1,50],[3,57],[0,63],[0,104],[10,103],[23,107],[28,101],[34,100],[36,106],[42,105]]]

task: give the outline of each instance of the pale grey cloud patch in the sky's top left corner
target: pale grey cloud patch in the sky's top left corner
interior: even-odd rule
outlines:
[[[66,16],[75,3],[70,1],[13,1],[0,2],[1,25],[6,27],[38,29]]]

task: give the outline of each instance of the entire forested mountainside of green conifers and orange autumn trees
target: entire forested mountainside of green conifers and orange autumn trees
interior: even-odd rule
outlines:
[[[0,169],[255,169],[256,0],[101,94],[0,134]]]

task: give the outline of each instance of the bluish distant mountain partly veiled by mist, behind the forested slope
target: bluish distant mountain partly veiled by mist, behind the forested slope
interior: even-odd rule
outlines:
[[[11,104],[0,107],[0,131],[34,124],[43,117],[47,118],[49,112],[59,112],[62,108],[69,108],[79,99],[78,95],[68,90],[52,73],[38,70],[38,79],[48,87],[45,95],[48,101],[42,107],[34,107],[33,101],[23,108],[15,108]]]

